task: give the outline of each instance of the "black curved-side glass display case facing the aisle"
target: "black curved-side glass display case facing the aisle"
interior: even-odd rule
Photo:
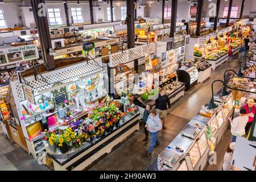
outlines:
[[[186,91],[193,88],[197,84],[199,72],[195,67],[183,67],[178,69],[178,80],[180,82],[185,82]]]

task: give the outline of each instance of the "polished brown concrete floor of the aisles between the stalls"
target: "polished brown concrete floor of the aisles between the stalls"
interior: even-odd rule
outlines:
[[[224,72],[228,68],[238,71],[237,60],[221,65],[212,76],[203,84],[185,93],[171,108],[167,117],[167,130],[162,130],[159,135],[160,145],[155,148],[151,156],[145,156],[149,142],[142,142],[144,138],[143,125],[129,139],[124,141],[112,153],[92,165],[89,170],[146,170],[155,162],[159,153],[168,146],[185,125],[199,111],[200,107],[209,102],[212,96],[211,84],[214,80],[223,80]],[[221,88],[221,84],[214,84],[214,93]],[[226,132],[224,139],[217,147],[217,165],[207,167],[207,170],[218,170],[222,165],[225,148],[229,143],[230,134]],[[0,127],[0,170],[48,170],[46,166],[39,165],[32,155],[27,154],[17,144],[10,144],[5,139]]]

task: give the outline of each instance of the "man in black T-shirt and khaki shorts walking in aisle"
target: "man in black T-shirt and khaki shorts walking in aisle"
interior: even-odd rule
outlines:
[[[167,117],[168,109],[171,109],[171,102],[164,89],[160,89],[159,92],[159,96],[155,100],[155,109],[162,119],[163,129],[166,130],[165,118]]]

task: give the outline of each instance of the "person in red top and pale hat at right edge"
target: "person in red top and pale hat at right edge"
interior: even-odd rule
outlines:
[[[255,102],[253,99],[249,99],[246,102],[246,105],[244,105],[243,107],[246,110],[246,114],[249,117],[249,121],[247,122],[246,126],[245,126],[245,133],[248,134],[251,124],[253,123],[253,118],[254,118],[254,114],[255,114],[255,110],[256,110],[256,106],[255,106]]]

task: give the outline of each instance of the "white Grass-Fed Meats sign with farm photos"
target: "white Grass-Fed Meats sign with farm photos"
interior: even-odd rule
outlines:
[[[36,44],[0,49],[0,65],[38,59]]]

